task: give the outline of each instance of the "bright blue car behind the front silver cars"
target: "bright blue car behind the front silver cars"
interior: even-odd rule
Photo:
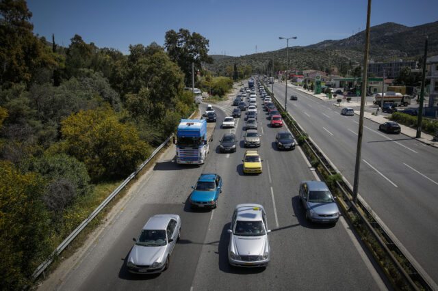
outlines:
[[[202,174],[192,189],[190,208],[216,208],[222,192],[222,178],[218,174]]]

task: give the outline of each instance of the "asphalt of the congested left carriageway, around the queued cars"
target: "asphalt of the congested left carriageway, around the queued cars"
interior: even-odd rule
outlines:
[[[231,102],[232,100],[230,100]],[[149,176],[140,180],[129,201],[98,236],[76,266],[60,278],[60,290],[378,290],[386,289],[379,271],[350,227],[313,225],[305,219],[298,200],[302,180],[315,180],[302,152],[280,152],[259,102],[259,134],[263,173],[242,173],[244,118],[237,121],[237,152],[220,154],[220,128],[231,106],[222,105],[207,162],[201,167],[177,165],[172,147]],[[216,149],[216,151],[215,151]],[[188,206],[191,186],[201,173],[218,173],[224,181],[218,208],[194,211]],[[262,204],[267,211],[271,261],[266,269],[231,267],[227,261],[227,229],[236,204]],[[147,219],[157,213],[181,216],[181,240],[161,275],[132,275],[125,260]],[[42,286],[44,289],[44,285]]]

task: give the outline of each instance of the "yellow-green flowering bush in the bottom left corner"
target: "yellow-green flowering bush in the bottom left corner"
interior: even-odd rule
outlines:
[[[20,290],[50,253],[46,182],[0,161],[0,289]]]

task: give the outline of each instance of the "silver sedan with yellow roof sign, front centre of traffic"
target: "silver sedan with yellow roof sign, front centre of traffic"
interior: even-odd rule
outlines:
[[[232,266],[265,267],[270,260],[266,212],[259,204],[238,204],[231,219],[228,262]]]

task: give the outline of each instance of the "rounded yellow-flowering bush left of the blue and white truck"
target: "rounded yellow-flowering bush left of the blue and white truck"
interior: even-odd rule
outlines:
[[[120,123],[110,107],[79,111],[61,126],[62,139],[49,153],[74,156],[85,163],[93,181],[124,178],[149,155],[136,128]]]

